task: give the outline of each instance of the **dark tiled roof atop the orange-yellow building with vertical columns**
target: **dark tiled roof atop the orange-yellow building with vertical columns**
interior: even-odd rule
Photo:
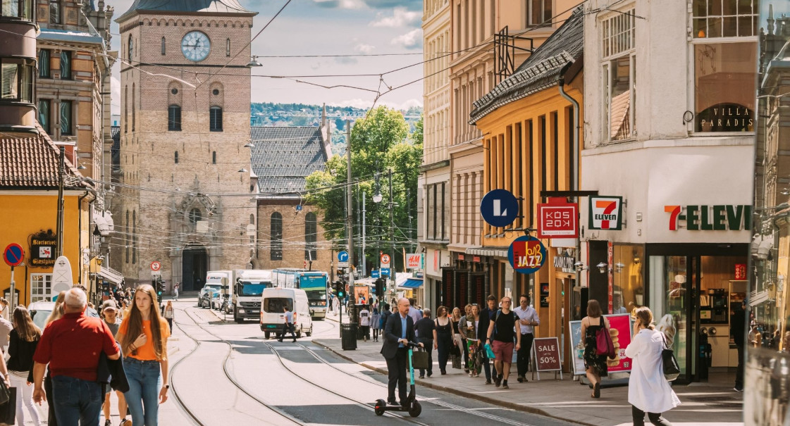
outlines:
[[[579,6],[513,75],[477,99],[473,103],[472,114],[469,114],[469,124],[475,124],[498,107],[556,86],[566,65],[578,61],[584,51],[583,18],[584,12]]]

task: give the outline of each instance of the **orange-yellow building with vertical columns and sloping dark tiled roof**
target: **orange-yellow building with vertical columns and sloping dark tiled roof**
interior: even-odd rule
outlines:
[[[541,192],[575,186],[581,132],[574,127],[583,116],[582,16],[581,8],[574,11],[512,76],[476,101],[471,114],[483,135],[482,193],[506,189],[521,200],[521,211],[510,226],[484,222],[483,247],[467,252],[493,258],[488,280],[495,297],[513,297],[517,305],[519,295],[531,296],[541,319],[536,337],[559,336],[570,320],[562,313],[570,312],[575,275],[573,262],[569,268],[562,258],[572,257],[575,244],[554,247],[544,240],[548,258],[533,275],[513,271],[507,249],[517,237],[535,236],[537,204],[546,202]]]

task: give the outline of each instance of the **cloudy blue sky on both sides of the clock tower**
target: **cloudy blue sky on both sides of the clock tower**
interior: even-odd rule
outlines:
[[[106,0],[115,7],[115,17],[129,9],[133,0]],[[286,0],[239,0],[246,9],[258,12],[255,35],[274,16]],[[337,75],[380,74],[422,61],[422,0],[292,0],[279,17],[253,42],[257,55],[312,54],[411,54],[368,58],[261,58],[262,67],[253,75]],[[118,24],[113,22],[112,48],[119,49]],[[120,100],[119,65],[115,65],[113,112]],[[397,86],[423,77],[423,66],[416,65],[384,77],[384,83]],[[327,86],[346,84],[376,90],[378,77],[300,78]],[[390,107],[408,108],[423,104],[423,84],[417,82],[397,89],[379,99]],[[371,107],[375,93],[352,88],[325,89],[291,80],[253,77],[253,102],[327,103]]]

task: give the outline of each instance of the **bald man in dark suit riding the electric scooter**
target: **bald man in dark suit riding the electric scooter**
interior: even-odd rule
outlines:
[[[387,402],[398,405],[395,400],[395,385],[401,404],[406,402],[406,368],[408,366],[408,342],[414,342],[414,320],[408,316],[408,299],[397,301],[397,314],[390,315],[384,326],[384,345],[382,355],[387,361],[389,374],[389,394]]]

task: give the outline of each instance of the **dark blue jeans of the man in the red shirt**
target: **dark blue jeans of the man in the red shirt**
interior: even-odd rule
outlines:
[[[52,378],[51,404],[60,426],[98,426],[104,395],[96,382],[68,376]]]

